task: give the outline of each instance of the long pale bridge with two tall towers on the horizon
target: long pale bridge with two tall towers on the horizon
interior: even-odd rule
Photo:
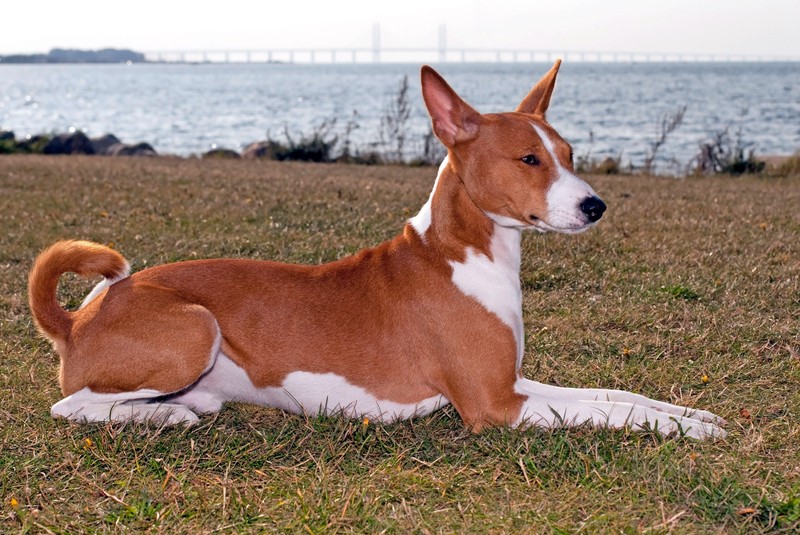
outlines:
[[[633,51],[546,49],[483,49],[447,46],[447,28],[439,26],[437,47],[381,46],[380,26],[372,28],[372,46],[354,48],[264,48],[252,50],[152,50],[148,61],[160,63],[399,63],[399,62],[552,62],[556,58],[579,62],[720,62],[800,61],[796,56],[743,54],[687,54]]]

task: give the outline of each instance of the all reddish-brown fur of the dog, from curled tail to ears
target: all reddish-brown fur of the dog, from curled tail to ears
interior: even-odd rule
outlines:
[[[443,394],[475,430],[514,421],[523,397],[514,393],[513,333],[453,284],[448,262],[464,261],[468,247],[491,257],[494,227],[485,211],[523,222],[543,213],[555,166],[536,171],[519,158],[543,152],[531,122],[551,131],[541,99],[549,100],[557,67],[518,112],[482,116],[455,96],[450,117],[433,117],[450,163],[424,236],[406,225],[389,242],[321,266],[248,260],[158,266],[73,313],[58,306],[58,277],[114,276],[124,260],[88,242],[46,250],[31,273],[30,302],[61,355],[63,393],[87,386],[181,390],[209,365],[218,325],[223,351],[257,387],[279,386],[297,370],[331,372],[378,399],[415,403]],[[431,73],[423,70],[423,85],[435,86],[426,102],[452,93]],[[565,147],[568,154],[568,146],[559,146],[560,155]]]

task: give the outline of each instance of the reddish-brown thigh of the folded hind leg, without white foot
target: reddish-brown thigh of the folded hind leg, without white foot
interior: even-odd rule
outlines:
[[[208,367],[217,328],[173,289],[129,278],[74,314],[61,353],[61,389],[175,392]]]

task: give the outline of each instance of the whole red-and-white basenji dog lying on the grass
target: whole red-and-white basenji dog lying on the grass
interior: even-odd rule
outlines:
[[[196,260],[129,275],[102,245],[46,249],[29,297],[61,357],[65,398],[52,414],[192,423],[237,401],[392,422],[452,403],[474,431],[588,424],[723,436],[710,412],[522,377],[521,233],[582,232],[606,209],[545,119],[559,65],[516,111],[485,115],[423,67],[447,157],[402,233],[354,256]],[[56,297],[66,272],[105,278],[76,311]]]

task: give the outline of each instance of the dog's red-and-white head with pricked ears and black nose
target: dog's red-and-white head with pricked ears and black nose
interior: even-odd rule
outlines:
[[[473,202],[497,224],[540,232],[582,232],[606,205],[573,167],[569,143],[545,119],[561,62],[516,111],[482,115],[436,71],[422,68],[433,132]]]

